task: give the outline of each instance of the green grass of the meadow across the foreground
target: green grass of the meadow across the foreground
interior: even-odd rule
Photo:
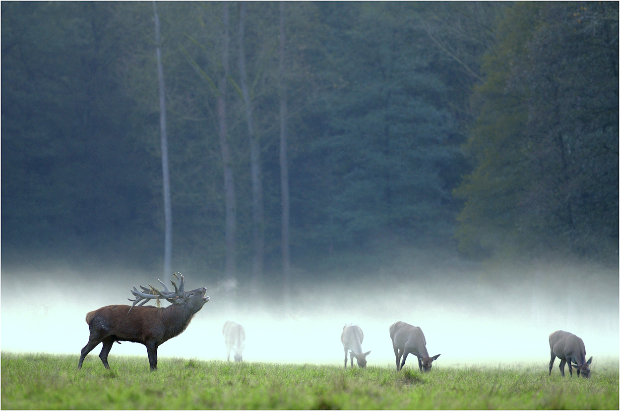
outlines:
[[[592,378],[546,365],[501,368],[226,363],[89,355],[1,354],[2,409],[618,409],[618,364]]]

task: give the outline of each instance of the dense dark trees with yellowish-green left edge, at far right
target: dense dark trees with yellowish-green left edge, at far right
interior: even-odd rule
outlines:
[[[474,91],[459,246],[617,263],[618,3],[519,3]]]

